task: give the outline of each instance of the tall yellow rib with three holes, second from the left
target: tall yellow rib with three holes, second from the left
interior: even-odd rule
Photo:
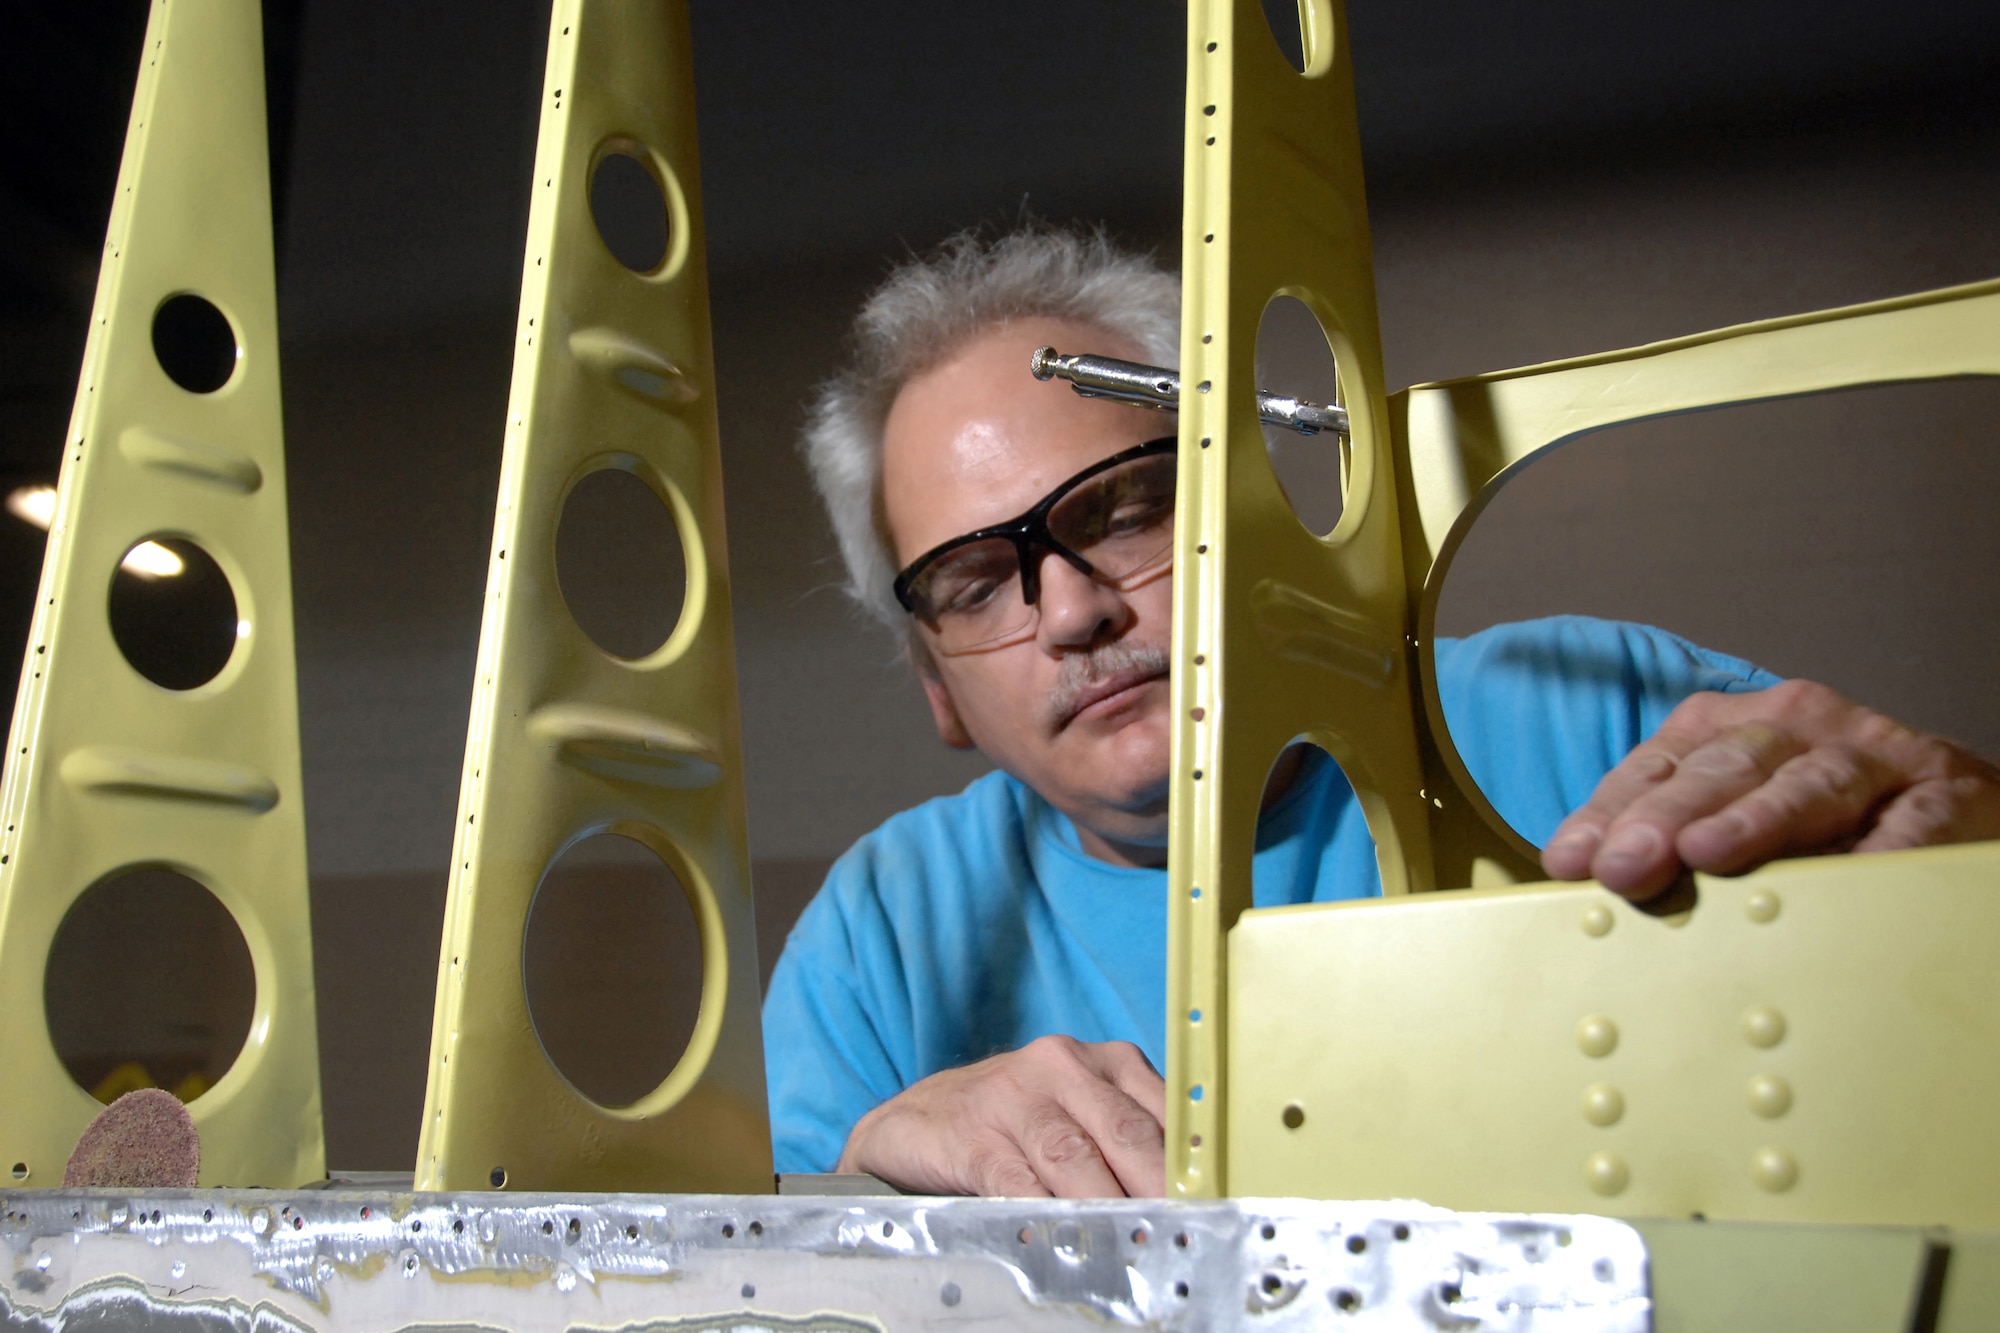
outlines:
[[[418,1189],[772,1189],[750,913],[722,476],[684,4],[556,0],[514,386],[452,857]],[[650,158],[668,258],[626,270],[596,234],[590,168]],[[556,586],[570,488],[620,466],[668,502],[682,620],[648,658],[598,650]],[[632,1107],[586,1101],[542,1055],[522,935],[542,871],[622,833],[688,887],[702,1013]],[[620,1015],[604,1015],[618,1023]]]

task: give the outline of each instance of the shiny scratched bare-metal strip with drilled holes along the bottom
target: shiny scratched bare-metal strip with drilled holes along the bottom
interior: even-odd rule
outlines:
[[[1600,1217],[1416,1203],[0,1195],[0,1333],[1650,1327]]]

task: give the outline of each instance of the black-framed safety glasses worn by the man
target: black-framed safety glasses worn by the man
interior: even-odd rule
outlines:
[[[946,652],[1028,628],[1050,550],[1100,582],[1164,566],[1174,552],[1176,436],[1146,440],[1050,490],[1020,518],[932,546],[896,574],[896,600]]]

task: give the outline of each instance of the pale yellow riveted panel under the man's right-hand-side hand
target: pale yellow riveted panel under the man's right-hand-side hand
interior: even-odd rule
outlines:
[[[1230,1187],[1994,1229],[1996,853],[1248,913]]]

